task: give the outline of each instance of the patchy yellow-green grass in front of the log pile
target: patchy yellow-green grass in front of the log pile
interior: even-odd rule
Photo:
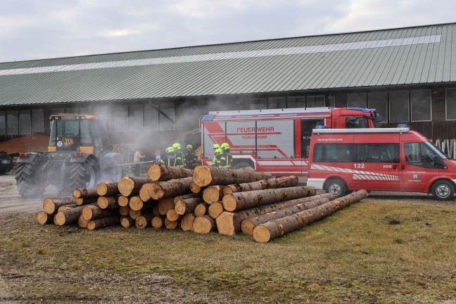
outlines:
[[[4,300],[454,303],[456,203],[367,198],[270,243],[3,217]],[[0,298],[1,300],[1,298]]]

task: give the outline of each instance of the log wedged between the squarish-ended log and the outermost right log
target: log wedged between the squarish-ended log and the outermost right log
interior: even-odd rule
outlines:
[[[258,215],[256,217],[251,217],[246,220],[243,220],[241,223],[241,230],[245,234],[252,235],[253,229],[260,224],[264,224],[265,222],[269,222],[271,220],[277,220],[280,217],[286,217],[288,215],[293,215],[295,213],[299,213],[304,210],[308,210],[310,208],[314,208],[317,205],[323,205],[324,203],[328,203],[330,200],[329,198],[319,198],[315,201],[310,201],[308,203],[300,203],[298,205],[293,205],[288,208],[282,208],[277,211],[273,211],[271,213],[265,213],[264,215]]]

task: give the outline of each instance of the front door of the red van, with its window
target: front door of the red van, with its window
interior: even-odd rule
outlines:
[[[403,141],[402,145],[400,189],[426,192],[428,182],[439,173],[433,161],[436,153],[426,142]]]

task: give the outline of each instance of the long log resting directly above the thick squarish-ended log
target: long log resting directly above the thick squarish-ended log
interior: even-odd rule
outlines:
[[[223,208],[227,211],[236,211],[252,208],[258,205],[289,201],[295,198],[303,198],[310,193],[315,195],[312,186],[294,186],[289,188],[265,189],[247,192],[236,192],[223,196]]]

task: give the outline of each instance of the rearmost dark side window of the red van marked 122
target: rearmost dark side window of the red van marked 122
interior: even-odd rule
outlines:
[[[315,144],[312,160],[315,163],[351,163],[351,144]]]

